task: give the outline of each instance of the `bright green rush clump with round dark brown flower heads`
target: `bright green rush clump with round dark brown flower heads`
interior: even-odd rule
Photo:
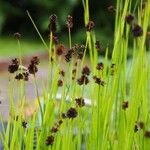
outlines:
[[[149,36],[150,0],[117,0],[110,6],[115,15],[114,46],[99,57],[101,43],[94,33],[88,0],[82,0],[86,28],[85,44],[71,40],[72,16],[67,17],[68,46],[57,39],[55,14],[49,18],[47,44],[30,13],[45,48],[48,50],[48,79],[39,95],[36,72],[39,58],[24,69],[20,58],[12,60],[9,72],[10,117],[0,134],[4,149],[50,150],[148,150],[150,146],[150,55],[146,51]],[[133,9],[134,8],[134,9]],[[17,34],[16,34],[17,35]],[[129,46],[130,41],[130,46]],[[128,64],[128,51],[132,61]],[[90,63],[86,62],[89,52]],[[130,52],[131,53],[131,52]],[[65,67],[64,67],[65,66]],[[25,84],[33,76],[38,109],[25,118]],[[19,81],[16,81],[19,80]],[[16,114],[14,82],[20,82],[21,110]],[[3,123],[2,123],[3,124]]]

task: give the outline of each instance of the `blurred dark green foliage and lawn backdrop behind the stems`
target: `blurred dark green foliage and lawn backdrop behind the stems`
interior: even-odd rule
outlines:
[[[95,33],[102,47],[112,45],[115,14],[108,12],[115,0],[89,0],[91,20],[95,22]],[[24,54],[43,51],[45,48],[39,39],[26,10],[35,21],[40,33],[48,42],[49,16],[58,16],[57,35],[59,42],[67,44],[66,17],[73,16],[73,43],[84,43],[85,27],[82,0],[0,0],[0,56],[16,56],[17,44],[13,38],[15,32],[22,35]]]

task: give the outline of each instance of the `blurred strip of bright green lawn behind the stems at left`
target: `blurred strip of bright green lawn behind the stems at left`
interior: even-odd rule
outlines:
[[[22,55],[30,55],[45,51],[45,47],[39,41],[21,39]],[[0,57],[17,57],[18,45],[16,39],[0,37]]]

